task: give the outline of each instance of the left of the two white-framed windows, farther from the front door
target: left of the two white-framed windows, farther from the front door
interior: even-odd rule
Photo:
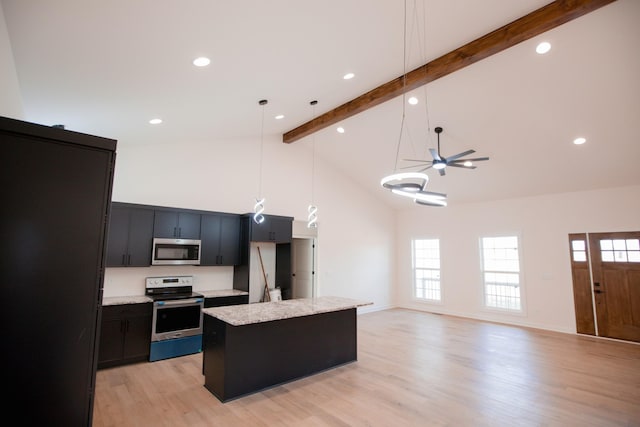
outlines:
[[[414,240],[412,246],[415,297],[430,301],[441,301],[440,240]]]

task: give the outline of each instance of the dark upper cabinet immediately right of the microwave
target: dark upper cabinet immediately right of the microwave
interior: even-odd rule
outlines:
[[[200,265],[240,263],[240,216],[202,214]]]

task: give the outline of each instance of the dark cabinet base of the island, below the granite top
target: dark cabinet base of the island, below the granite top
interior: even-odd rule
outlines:
[[[357,360],[356,308],[232,326],[204,316],[204,386],[226,402]]]

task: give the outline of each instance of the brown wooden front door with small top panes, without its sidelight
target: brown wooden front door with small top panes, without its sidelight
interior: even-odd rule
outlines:
[[[598,335],[640,342],[640,232],[590,234],[589,246]]]

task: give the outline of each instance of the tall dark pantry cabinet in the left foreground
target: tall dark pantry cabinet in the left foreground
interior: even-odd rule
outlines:
[[[0,117],[2,413],[89,426],[116,141]]]

